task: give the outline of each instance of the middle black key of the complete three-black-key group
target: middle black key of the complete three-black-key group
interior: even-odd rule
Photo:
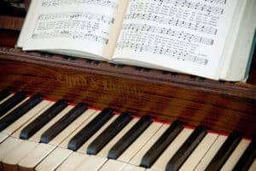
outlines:
[[[102,134],[100,134],[95,140],[93,140],[87,148],[87,154],[96,155],[98,151],[108,144],[113,137],[121,131],[127,123],[131,121],[131,113],[122,113],[106,128]]]

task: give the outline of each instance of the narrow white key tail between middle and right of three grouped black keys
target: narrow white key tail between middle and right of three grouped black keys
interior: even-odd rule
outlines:
[[[105,145],[105,146],[102,148],[102,151],[100,151],[96,156],[98,156],[98,157],[108,157],[108,151],[113,147],[113,145],[115,145],[115,143],[116,143],[118,140],[120,140],[120,138],[123,137],[123,135],[124,135],[125,133],[127,133],[127,132],[130,130],[130,128],[131,128],[133,125],[135,125],[135,124],[137,123],[137,121],[138,121],[137,118],[133,118],[133,119],[131,120],[131,122],[128,123],[128,124],[125,126],[125,128],[123,128],[123,129],[119,132],[119,134],[117,134],[117,135],[113,138],[113,140],[111,140],[107,145]]]

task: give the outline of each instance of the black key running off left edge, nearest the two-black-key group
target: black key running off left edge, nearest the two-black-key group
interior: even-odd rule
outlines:
[[[14,123],[18,118],[22,117],[27,111],[31,110],[41,101],[42,96],[40,94],[34,95],[32,98],[26,100],[23,104],[18,106],[14,111],[11,111],[8,115],[4,116],[0,120],[0,131],[7,128],[11,123]]]

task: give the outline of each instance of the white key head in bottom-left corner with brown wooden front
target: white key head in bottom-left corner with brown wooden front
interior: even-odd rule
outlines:
[[[22,158],[26,157],[29,151],[32,151],[38,143],[32,141],[22,141],[19,145],[15,146],[12,151],[3,158],[3,168],[4,170],[17,170],[18,163]]]

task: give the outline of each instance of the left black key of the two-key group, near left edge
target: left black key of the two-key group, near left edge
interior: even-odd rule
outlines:
[[[32,137],[40,128],[44,127],[46,123],[59,114],[64,108],[67,107],[66,100],[59,100],[54,105],[52,105],[48,110],[44,111],[40,116],[38,116],[32,123],[26,125],[20,132],[20,139],[27,140]]]

